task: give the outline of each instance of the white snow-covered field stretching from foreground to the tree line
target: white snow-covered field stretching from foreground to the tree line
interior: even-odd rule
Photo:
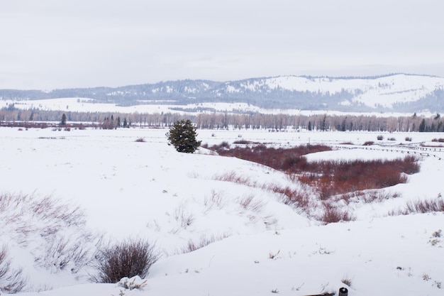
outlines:
[[[35,241],[42,236],[28,234],[23,246],[13,223],[3,219],[1,244],[7,246],[12,265],[28,275],[28,292],[21,295],[297,296],[338,293],[340,287],[347,287],[350,296],[443,295],[444,238],[439,234],[444,214],[388,214],[409,201],[442,198],[444,148],[414,150],[406,145],[436,145],[431,140],[444,138],[443,133],[382,133],[396,141],[377,141],[379,133],[198,131],[198,138],[210,146],[245,139],[335,148],[309,155],[309,160],[392,159],[407,152],[421,157],[421,171],[409,175],[406,184],[381,190],[399,197],[343,205],[356,221],[323,225],[264,189],[299,186],[283,172],[211,155],[203,148],[177,153],[167,146],[166,132],[0,128],[0,193],[50,196],[79,205],[90,231],[116,241],[148,238],[162,253],[143,290],[89,283],[82,270],[73,275],[41,267],[35,262],[40,246]],[[406,136],[412,141],[405,142]],[[365,141],[387,146],[364,147]],[[255,186],[218,180],[230,174]],[[206,240],[214,242],[182,252],[189,241]]]

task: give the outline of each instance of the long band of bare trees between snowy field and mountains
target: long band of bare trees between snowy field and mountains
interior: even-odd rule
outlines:
[[[62,120],[62,116],[65,117]],[[398,116],[381,117],[370,115],[327,115],[316,114],[287,115],[287,114],[229,114],[201,113],[183,115],[178,113],[145,114],[134,112],[105,113],[105,112],[74,112],[74,111],[42,111],[21,110],[8,108],[0,110],[0,125],[12,126],[17,122],[30,124],[33,122],[59,122],[65,124],[82,123],[96,128],[127,128],[140,127],[170,127],[179,120],[191,119],[196,128],[201,129],[265,129],[283,131],[287,128],[309,131],[419,131],[444,132],[444,119],[440,114],[431,117]],[[17,125],[17,124],[16,124]]]

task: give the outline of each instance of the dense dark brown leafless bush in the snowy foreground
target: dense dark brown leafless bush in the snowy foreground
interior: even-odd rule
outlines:
[[[118,283],[122,278],[138,275],[145,278],[152,264],[160,258],[155,245],[143,239],[126,239],[121,243],[102,247],[95,256],[95,283]]]

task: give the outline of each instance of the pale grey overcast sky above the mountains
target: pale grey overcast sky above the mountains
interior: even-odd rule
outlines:
[[[444,77],[443,0],[1,0],[0,89]]]

